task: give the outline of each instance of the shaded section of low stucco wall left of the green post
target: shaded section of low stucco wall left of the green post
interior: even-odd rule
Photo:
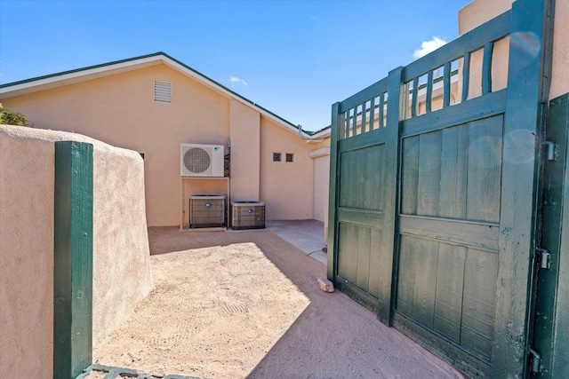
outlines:
[[[0,367],[51,378],[54,148],[0,128]]]

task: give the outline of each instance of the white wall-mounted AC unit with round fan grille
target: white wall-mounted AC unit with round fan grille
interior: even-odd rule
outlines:
[[[182,177],[223,177],[223,145],[180,145]]]

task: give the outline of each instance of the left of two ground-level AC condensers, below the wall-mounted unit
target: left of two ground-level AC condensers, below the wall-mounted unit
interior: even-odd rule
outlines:
[[[223,227],[226,196],[192,195],[189,197],[189,227]]]

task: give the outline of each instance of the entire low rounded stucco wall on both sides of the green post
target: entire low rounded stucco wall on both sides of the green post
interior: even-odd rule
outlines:
[[[57,140],[93,145],[93,344],[152,287],[140,156],[84,136],[0,125],[0,367],[52,377]]]

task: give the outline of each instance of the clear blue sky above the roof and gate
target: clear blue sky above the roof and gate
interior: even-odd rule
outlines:
[[[0,83],[164,51],[305,130],[471,0],[0,0]]]

